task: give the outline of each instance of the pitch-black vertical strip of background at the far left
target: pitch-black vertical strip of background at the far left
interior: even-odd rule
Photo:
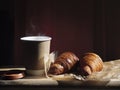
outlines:
[[[0,0],[0,66],[13,64],[15,31],[13,5],[13,1]]]

